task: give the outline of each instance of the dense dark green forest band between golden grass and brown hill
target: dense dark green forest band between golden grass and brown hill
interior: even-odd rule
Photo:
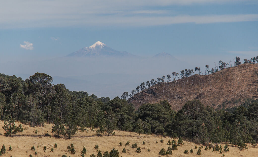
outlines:
[[[98,136],[109,136],[117,129],[183,137],[204,145],[230,142],[240,149],[246,143],[257,143],[258,100],[248,99],[232,113],[205,107],[198,100],[188,101],[179,111],[172,110],[166,100],[135,110],[125,99],[71,92],[52,81],[45,73],[35,73],[25,81],[0,74],[1,120],[31,126],[51,123],[55,137],[70,138],[78,128],[98,128]]]

